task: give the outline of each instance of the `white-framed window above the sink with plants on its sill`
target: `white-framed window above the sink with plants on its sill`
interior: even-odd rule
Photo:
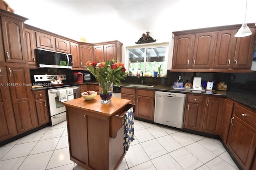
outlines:
[[[158,71],[158,67],[161,65],[161,74],[166,73],[167,49],[168,44],[127,47],[128,71],[132,72],[132,75],[143,71],[143,73],[152,74],[153,76],[153,72]]]

